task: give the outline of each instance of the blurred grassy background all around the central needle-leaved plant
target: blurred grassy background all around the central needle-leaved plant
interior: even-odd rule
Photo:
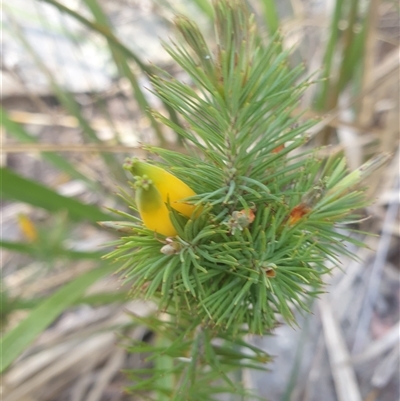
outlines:
[[[392,161],[368,180],[360,261],[343,258],[330,294],[276,336],[252,341],[276,355],[246,386],[274,400],[399,398],[399,5],[389,0],[248,0],[265,40],[279,30],[316,83],[303,118],[319,123],[308,147],[343,152],[349,169]],[[180,122],[151,93],[155,66],[185,73],[161,40],[176,13],[212,29],[209,0],[10,0],[2,15],[2,372],[4,401],[139,400],[121,370],[146,366],[132,338],[152,341],[130,312],[115,267],[115,236],[97,221],[125,206],[121,165],[141,144],[183,149],[152,116]],[[110,217],[111,216],[111,217]],[[328,279],[327,279],[328,280]],[[128,346],[126,350],[123,345]],[[343,367],[343,361],[346,361]],[[345,389],[343,391],[343,389]]]

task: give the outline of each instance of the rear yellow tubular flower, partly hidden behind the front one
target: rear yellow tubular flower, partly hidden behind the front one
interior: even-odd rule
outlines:
[[[131,159],[125,164],[133,176],[146,175],[159,191],[164,203],[169,202],[171,207],[186,217],[190,217],[195,209],[194,205],[182,202],[182,199],[196,195],[196,193],[183,181],[160,167]]]

